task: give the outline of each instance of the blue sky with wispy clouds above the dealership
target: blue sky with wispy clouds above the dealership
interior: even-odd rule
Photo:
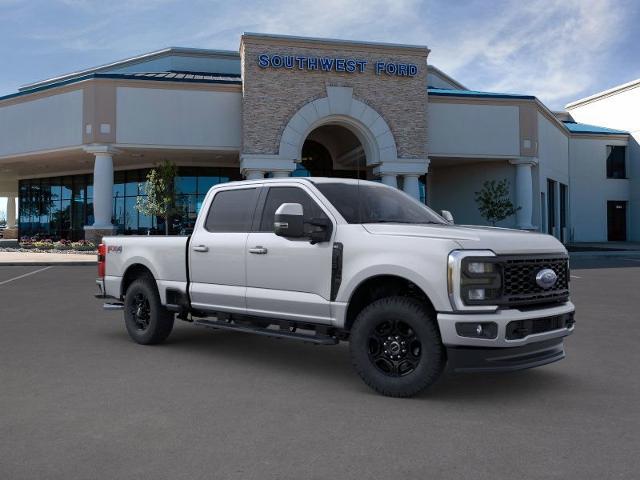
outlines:
[[[0,95],[167,46],[237,50],[243,31],[427,45],[468,88],[552,109],[640,77],[634,0],[0,0]]]

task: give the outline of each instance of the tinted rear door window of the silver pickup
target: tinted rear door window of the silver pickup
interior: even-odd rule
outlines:
[[[216,193],[204,228],[209,232],[248,232],[256,208],[258,190],[227,190]]]

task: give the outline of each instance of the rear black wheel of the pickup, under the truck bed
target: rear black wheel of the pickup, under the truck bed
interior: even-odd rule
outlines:
[[[152,278],[134,280],[124,297],[124,320],[127,332],[141,345],[161,343],[173,330],[173,313],[160,303]]]

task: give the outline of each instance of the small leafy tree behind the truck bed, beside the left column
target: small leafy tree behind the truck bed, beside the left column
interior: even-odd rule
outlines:
[[[164,232],[169,235],[169,220],[176,212],[175,178],[178,167],[165,160],[147,174],[147,183],[142,184],[146,197],[138,197],[136,210],[143,215],[164,218]]]

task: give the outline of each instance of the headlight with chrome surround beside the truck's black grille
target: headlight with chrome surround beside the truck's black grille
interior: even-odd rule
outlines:
[[[449,254],[448,286],[455,310],[496,310],[502,295],[502,275],[490,250],[456,250]]]

